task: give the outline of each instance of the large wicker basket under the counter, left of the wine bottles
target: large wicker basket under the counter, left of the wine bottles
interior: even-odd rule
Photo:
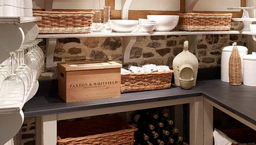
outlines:
[[[57,123],[57,144],[134,144],[134,131],[121,117],[113,115],[94,119]]]

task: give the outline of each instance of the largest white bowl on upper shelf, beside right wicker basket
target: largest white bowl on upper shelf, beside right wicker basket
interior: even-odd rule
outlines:
[[[168,32],[177,26],[179,15],[147,15],[147,19],[156,21],[156,31]]]

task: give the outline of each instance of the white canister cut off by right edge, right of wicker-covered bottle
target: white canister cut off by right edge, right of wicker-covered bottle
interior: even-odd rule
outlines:
[[[256,86],[256,52],[244,56],[244,85]]]

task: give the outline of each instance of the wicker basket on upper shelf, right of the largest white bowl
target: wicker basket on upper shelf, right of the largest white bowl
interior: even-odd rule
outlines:
[[[232,14],[179,14],[178,27],[180,30],[206,31],[230,30]]]

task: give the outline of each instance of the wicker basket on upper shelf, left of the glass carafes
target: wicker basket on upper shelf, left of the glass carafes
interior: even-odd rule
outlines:
[[[41,21],[36,21],[39,33],[89,33],[93,14],[93,12],[33,11],[33,16],[42,17]]]

